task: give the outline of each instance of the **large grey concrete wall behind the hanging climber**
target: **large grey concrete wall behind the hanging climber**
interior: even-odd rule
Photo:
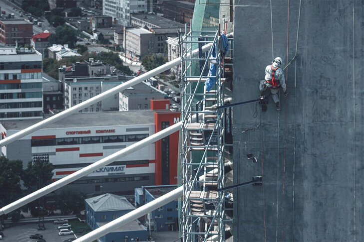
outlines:
[[[283,65],[287,28],[288,58],[295,54],[299,3],[272,0],[274,56]],[[256,99],[273,55],[270,1],[235,5],[237,103]],[[256,118],[255,104],[234,107],[234,183],[262,172],[264,181],[235,191],[234,241],[364,241],[363,6],[363,0],[302,0],[298,58],[288,68],[281,112],[271,97],[266,112],[257,106]]]

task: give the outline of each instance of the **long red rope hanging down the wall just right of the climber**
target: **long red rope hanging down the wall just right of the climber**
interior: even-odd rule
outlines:
[[[288,63],[288,47],[289,47],[289,25],[290,25],[290,0],[288,0],[288,10],[287,10],[287,63]],[[286,69],[286,85],[288,81],[288,66]],[[287,144],[287,99],[285,108],[285,145],[284,145],[284,155],[283,155],[283,193],[282,193],[282,235],[281,241],[283,242],[283,232],[284,232],[284,198],[285,198],[285,178],[286,178],[286,144]],[[293,228],[292,228],[293,229]]]

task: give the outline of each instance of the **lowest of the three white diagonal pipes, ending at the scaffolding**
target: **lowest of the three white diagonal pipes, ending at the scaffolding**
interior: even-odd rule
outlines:
[[[118,219],[115,219],[109,223],[107,223],[104,226],[101,226],[100,228],[91,231],[90,233],[76,239],[74,242],[90,242],[97,240],[98,238],[107,235],[108,233],[120,228],[123,225],[126,225],[144,215],[147,213],[150,213],[161,206],[166,205],[167,203],[170,203],[177,198],[181,197],[183,194],[183,186],[180,186],[169,193],[164,194],[163,196],[137,208],[133,211],[121,216]]]

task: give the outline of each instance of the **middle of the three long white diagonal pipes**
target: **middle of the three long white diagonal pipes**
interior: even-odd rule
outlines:
[[[38,198],[40,198],[50,192],[53,192],[53,191],[57,190],[58,188],[61,188],[83,176],[86,176],[87,174],[90,174],[91,172],[93,172],[101,167],[104,167],[105,165],[108,165],[126,155],[129,155],[145,146],[148,146],[148,145],[158,141],[159,139],[162,139],[162,138],[178,131],[181,128],[181,126],[182,126],[182,121],[179,121],[179,122],[173,124],[172,126],[169,126],[157,133],[154,133],[154,134],[150,135],[149,137],[144,138],[143,140],[140,140],[122,150],[119,150],[116,153],[113,153],[99,161],[96,161],[95,163],[93,163],[89,166],[86,166],[66,177],[63,177],[62,179],[57,180],[35,192],[32,192],[29,195],[27,195],[23,198],[20,198],[16,201],[6,205],[5,207],[2,207],[0,209],[0,216],[3,214],[8,214],[24,205],[30,203],[31,201],[34,201],[35,199],[38,199]]]

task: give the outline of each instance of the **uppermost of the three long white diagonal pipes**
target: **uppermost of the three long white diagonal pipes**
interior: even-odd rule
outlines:
[[[228,34],[228,37],[231,37],[231,36],[233,36],[233,33]],[[202,50],[202,52],[206,52],[210,48],[211,48],[211,43],[202,46],[201,50]],[[187,58],[198,56],[198,53],[199,53],[199,49],[195,49],[195,50],[193,50],[191,52],[190,55],[187,55]],[[172,67],[177,66],[179,64],[181,64],[181,57],[178,57],[177,59],[174,59],[174,60],[172,60],[170,62],[167,62],[167,63],[165,63],[165,64],[163,64],[163,65],[161,65],[161,66],[159,66],[159,67],[157,67],[157,68],[155,68],[155,69],[153,69],[151,71],[148,71],[148,72],[146,72],[146,73],[144,73],[144,74],[142,74],[142,75],[140,75],[138,77],[135,77],[135,78],[131,79],[130,81],[127,81],[127,82],[125,82],[123,84],[120,84],[120,85],[114,87],[114,88],[111,88],[111,89],[109,89],[109,90],[107,90],[107,91],[105,91],[105,92],[103,92],[103,93],[101,93],[101,94],[99,94],[99,95],[97,95],[97,96],[95,96],[93,98],[90,98],[90,99],[88,99],[88,100],[86,100],[86,101],[84,101],[84,102],[82,102],[80,104],[77,104],[76,106],[73,106],[73,107],[71,107],[71,108],[69,108],[67,110],[64,110],[61,113],[56,114],[56,115],[54,115],[54,116],[52,116],[52,117],[50,117],[50,118],[48,118],[46,120],[37,122],[37,123],[25,128],[25,129],[23,129],[21,131],[18,131],[16,133],[2,139],[0,141],[0,147],[4,146],[4,145],[7,145],[7,144],[9,144],[11,142],[14,142],[14,141],[16,141],[16,140],[18,140],[18,139],[32,133],[32,132],[34,132],[34,131],[42,128],[42,127],[45,127],[48,124],[51,124],[51,123],[53,123],[55,121],[58,121],[58,120],[61,120],[61,119],[65,118],[65,117],[67,117],[67,116],[70,116],[73,113],[76,113],[76,112],[78,112],[78,111],[80,111],[80,110],[82,110],[84,108],[87,108],[87,107],[91,106],[92,104],[100,102],[100,101],[104,100],[107,97],[110,97],[110,96],[112,96],[114,94],[117,94],[118,92],[121,92],[121,91],[123,91],[123,90],[125,90],[125,89],[127,89],[129,87],[132,87],[132,86],[134,86],[134,85],[136,85],[138,83],[141,83],[142,81],[145,81],[148,78],[154,77],[155,75],[157,75],[159,73],[162,73],[162,72],[164,72],[166,70],[169,70]]]

